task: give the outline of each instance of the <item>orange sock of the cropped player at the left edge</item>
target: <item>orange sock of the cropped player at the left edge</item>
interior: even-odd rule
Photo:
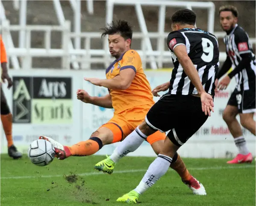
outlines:
[[[3,124],[3,130],[6,135],[6,140],[8,143],[8,147],[13,145],[13,140],[12,140],[12,114],[6,114],[3,115],[1,114],[1,121]]]

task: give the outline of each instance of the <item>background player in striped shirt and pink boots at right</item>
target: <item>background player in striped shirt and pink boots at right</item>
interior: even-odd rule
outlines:
[[[238,120],[241,125],[255,135],[255,54],[251,48],[247,33],[237,24],[238,11],[234,6],[222,6],[219,9],[221,27],[226,31],[224,37],[226,44],[227,59],[218,73],[218,79],[233,67],[233,71],[224,77],[218,88],[225,89],[230,80],[235,77],[237,86],[227,103],[223,113],[223,119],[235,139],[238,155],[227,163],[251,163],[252,154],[247,148],[246,141]]]

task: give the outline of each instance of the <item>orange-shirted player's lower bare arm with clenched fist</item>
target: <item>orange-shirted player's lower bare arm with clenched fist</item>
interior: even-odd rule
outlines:
[[[83,89],[77,90],[77,99],[81,100],[84,103],[93,104],[96,106],[101,106],[104,108],[112,109],[112,99],[111,95],[107,94],[104,97],[92,97]]]

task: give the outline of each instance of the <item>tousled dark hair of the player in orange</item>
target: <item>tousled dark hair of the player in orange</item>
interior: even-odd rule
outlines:
[[[132,26],[125,20],[112,21],[112,23],[106,24],[102,30],[104,30],[104,32],[101,34],[101,37],[105,37],[107,34],[120,34],[125,40],[132,40]]]

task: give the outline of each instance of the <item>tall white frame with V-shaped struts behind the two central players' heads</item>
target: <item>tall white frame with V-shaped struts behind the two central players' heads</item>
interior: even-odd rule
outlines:
[[[123,5],[123,6],[135,6],[135,12],[138,18],[138,23],[141,29],[142,34],[144,34],[144,41],[147,50],[153,52],[152,45],[150,42],[150,37],[147,35],[147,26],[144,18],[144,14],[142,11],[141,6],[158,6],[159,7],[159,21],[158,21],[158,38],[157,38],[157,45],[158,51],[161,52],[161,55],[158,57],[157,64],[156,60],[152,54],[150,54],[150,66],[152,69],[162,68],[164,63],[164,39],[165,39],[165,9],[166,7],[184,7],[187,9],[193,8],[201,8],[201,9],[208,9],[208,30],[210,33],[213,33],[214,30],[214,15],[215,15],[215,5],[212,2],[200,2],[200,1],[165,1],[165,0],[108,0],[106,1],[106,23],[111,23],[113,20],[113,11],[115,5]],[[104,49],[108,51],[108,42],[105,40],[104,42]],[[106,66],[107,66],[107,57],[106,59]]]

